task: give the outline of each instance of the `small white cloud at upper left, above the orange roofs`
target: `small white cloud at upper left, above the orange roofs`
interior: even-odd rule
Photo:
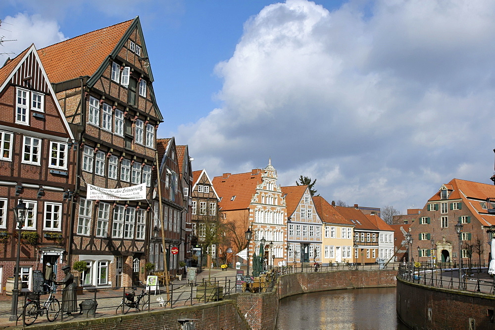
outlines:
[[[38,14],[7,16],[2,19],[1,28],[0,35],[4,36],[4,40],[13,40],[3,42],[3,47],[0,47],[0,53],[14,53],[3,55],[5,59],[7,56],[13,58],[19,55],[33,43],[40,49],[65,39],[56,21]]]

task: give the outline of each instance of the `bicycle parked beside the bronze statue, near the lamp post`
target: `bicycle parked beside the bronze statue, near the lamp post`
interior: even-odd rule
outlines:
[[[30,297],[26,299],[27,303],[22,308],[22,315],[24,319],[24,325],[32,325],[38,316],[43,316],[47,313],[48,322],[53,322],[58,318],[60,314],[60,302],[55,298],[53,291],[41,306],[40,294],[31,294]]]

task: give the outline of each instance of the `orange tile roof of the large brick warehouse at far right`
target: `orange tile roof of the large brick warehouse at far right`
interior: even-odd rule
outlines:
[[[442,187],[451,187],[446,199],[442,199]],[[495,186],[492,184],[479,183],[461,179],[452,179],[433,195],[428,202],[442,202],[451,200],[461,200],[468,207],[473,216],[478,219],[483,226],[495,225],[495,215],[488,213],[486,205],[487,198],[495,198]]]

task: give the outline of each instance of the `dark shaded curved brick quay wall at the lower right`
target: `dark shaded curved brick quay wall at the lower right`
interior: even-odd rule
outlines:
[[[495,329],[495,296],[397,278],[397,316],[413,329]]]

